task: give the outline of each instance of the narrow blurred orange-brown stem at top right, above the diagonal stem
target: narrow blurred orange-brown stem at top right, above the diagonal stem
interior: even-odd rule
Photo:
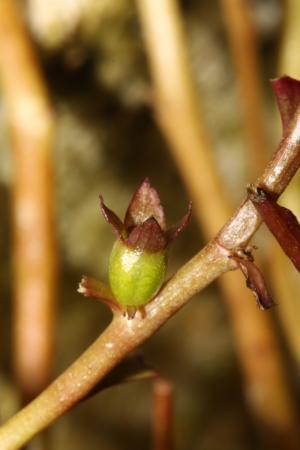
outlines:
[[[266,161],[267,146],[257,45],[250,6],[244,0],[220,0],[220,3],[240,92],[250,171],[252,176],[257,176]]]

